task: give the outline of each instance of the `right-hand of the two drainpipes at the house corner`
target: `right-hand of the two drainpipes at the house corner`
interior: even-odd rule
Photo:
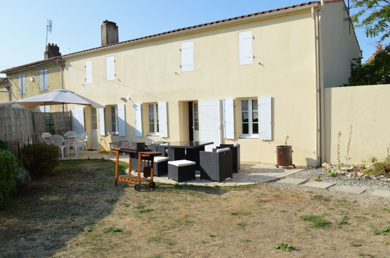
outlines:
[[[319,42],[319,59],[320,59],[320,136],[321,136],[321,150],[320,162],[325,162],[325,103],[324,103],[324,62],[323,62],[323,46],[322,40],[322,12],[324,11],[325,0],[321,0],[320,13],[318,15],[318,42]]]

